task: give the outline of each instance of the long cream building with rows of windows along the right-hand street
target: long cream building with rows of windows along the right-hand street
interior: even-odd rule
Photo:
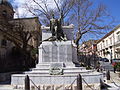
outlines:
[[[97,42],[97,54],[102,58],[120,59],[120,25]]]

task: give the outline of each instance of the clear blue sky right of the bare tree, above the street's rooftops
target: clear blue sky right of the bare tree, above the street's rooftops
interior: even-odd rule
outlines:
[[[108,13],[113,16],[115,19],[114,25],[117,26],[120,24],[120,0],[93,0],[95,1],[95,5],[103,3],[107,7]],[[108,33],[108,32],[107,32]],[[102,34],[100,36],[95,36],[95,35],[84,35],[82,38],[82,42],[86,41],[84,38],[88,39],[100,39],[104,36],[105,34]]]

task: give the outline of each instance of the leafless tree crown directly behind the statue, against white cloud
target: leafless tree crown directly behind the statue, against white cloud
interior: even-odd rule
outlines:
[[[55,14],[56,18],[61,16],[62,22],[64,22],[64,18],[66,18],[74,5],[74,0],[52,0],[52,4],[49,0],[30,1],[34,4],[31,5],[26,2],[25,8],[33,15],[40,17],[41,22],[45,25],[49,25],[52,14]]]

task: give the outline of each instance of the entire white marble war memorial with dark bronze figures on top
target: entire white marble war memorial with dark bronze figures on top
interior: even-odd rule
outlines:
[[[75,67],[78,61],[73,42],[74,26],[61,26],[61,19],[53,17],[50,27],[41,28],[43,42],[39,46],[39,63],[31,71],[13,74],[11,85],[15,88],[24,88],[25,76],[28,75],[40,90],[77,90],[76,78],[81,74],[83,90],[89,90],[86,83],[95,90],[100,90],[102,73],[86,70],[85,67]],[[31,88],[34,87],[32,82]]]

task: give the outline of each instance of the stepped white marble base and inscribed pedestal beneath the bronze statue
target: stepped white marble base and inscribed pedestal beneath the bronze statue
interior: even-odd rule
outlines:
[[[62,86],[54,90],[65,90],[65,87],[70,86],[74,81],[73,86],[76,86],[77,75],[81,74],[88,84],[97,85],[97,88],[99,88],[98,86],[100,85],[100,79],[103,79],[103,74],[94,72],[94,70],[86,70],[85,67],[75,67],[72,62],[77,61],[76,55],[71,41],[43,42],[39,47],[39,63],[36,65],[36,68],[24,74],[12,75],[11,85],[24,86],[25,76],[28,75],[30,80],[37,86],[42,86],[42,90],[46,86],[51,88],[52,86]],[[53,70],[52,75],[50,75],[51,68]],[[58,73],[59,70],[62,70],[62,73]],[[58,75],[54,75],[56,72]],[[84,81],[82,82],[85,84]],[[32,83],[31,86],[33,86]]]

